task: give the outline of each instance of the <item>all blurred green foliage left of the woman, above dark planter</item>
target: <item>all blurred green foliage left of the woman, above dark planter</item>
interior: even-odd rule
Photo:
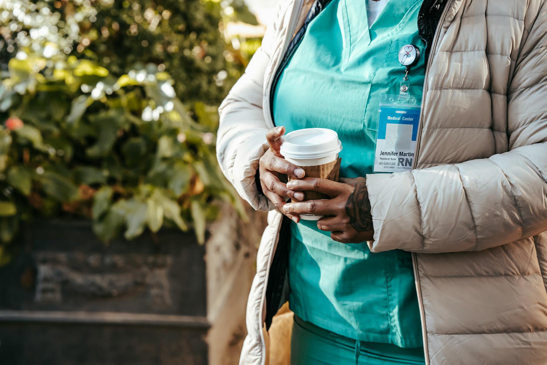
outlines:
[[[238,0],[0,0],[0,264],[33,217],[203,242],[217,202],[245,215],[214,155],[217,106],[260,45],[241,22]]]

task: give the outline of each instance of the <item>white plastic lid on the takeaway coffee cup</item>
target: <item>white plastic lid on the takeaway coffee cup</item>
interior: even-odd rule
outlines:
[[[322,158],[339,153],[342,142],[327,128],[299,129],[283,136],[281,154],[292,159]]]

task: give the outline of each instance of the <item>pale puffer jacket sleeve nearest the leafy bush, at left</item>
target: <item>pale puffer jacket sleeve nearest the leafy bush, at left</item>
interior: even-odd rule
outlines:
[[[277,7],[281,16],[282,3]],[[224,176],[255,210],[272,210],[275,206],[257,190],[255,174],[258,161],[266,152],[263,84],[266,67],[275,51],[278,21],[266,29],[260,48],[255,52],[226,99],[219,107],[220,126],[217,134],[217,159]]]

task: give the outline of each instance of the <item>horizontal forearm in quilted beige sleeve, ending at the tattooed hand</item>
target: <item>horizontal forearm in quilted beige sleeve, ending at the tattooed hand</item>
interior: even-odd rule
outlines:
[[[484,250],[547,230],[547,144],[490,159],[368,175],[373,252]]]

